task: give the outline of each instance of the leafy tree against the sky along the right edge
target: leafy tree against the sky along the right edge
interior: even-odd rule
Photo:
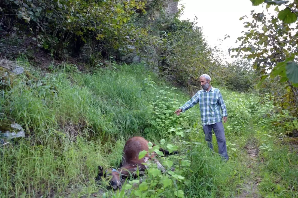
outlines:
[[[232,55],[232,57],[242,56],[240,54],[244,53],[243,58],[254,61],[253,67],[260,74],[260,82],[256,87],[260,87],[267,78],[273,80],[279,76],[279,83],[285,84],[287,92],[274,94],[275,109],[279,112],[286,109],[292,116],[297,117],[298,23],[294,23],[297,20],[297,17],[294,17],[296,15],[294,8],[297,7],[297,3],[296,1],[251,1],[253,5],[265,2],[267,9],[275,4],[277,5],[275,11],[278,14],[275,13],[268,17],[264,12],[252,11],[252,20],[246,21],[244,26],[248,31],[243,32],[244,35],[238,38],[241,42],[240,46],[229,49],[229,51],[237,52],[237,55]],[[286,8],[279,11],[278,6],[282,4],[285,4]],[[248,17],[241,17],[240,20],[244,18]],[[296,18],[295,21],[294,18]]]

